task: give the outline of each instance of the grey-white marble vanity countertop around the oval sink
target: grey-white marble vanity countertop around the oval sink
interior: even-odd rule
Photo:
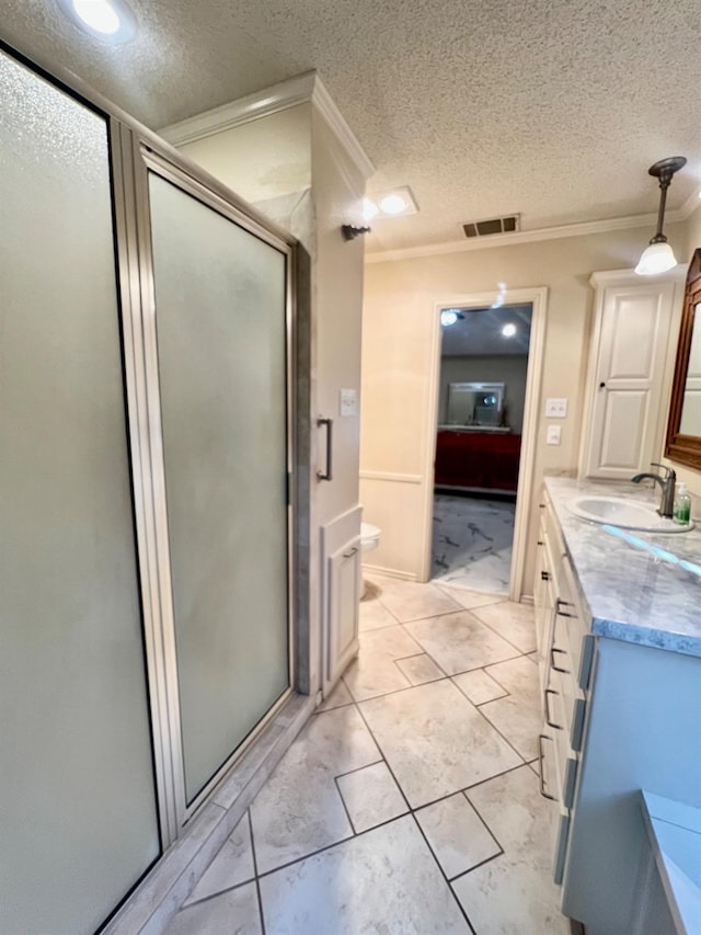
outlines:
[[[579,520],[567,502],[584,493],[658,501],[657,488],[547,477],[545,489],[591,613],[591,632],[701,657],[701,523],[689,533],[616,535]]]

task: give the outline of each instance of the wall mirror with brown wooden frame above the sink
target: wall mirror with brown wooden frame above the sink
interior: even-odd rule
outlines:
[[[701,248],[687,275],[665,455],[701,469]]]

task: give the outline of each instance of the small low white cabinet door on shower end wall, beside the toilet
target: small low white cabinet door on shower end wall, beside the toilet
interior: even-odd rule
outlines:
[[[358,651],[359,596],[360,544],[354,539],[329,558],[325,689]]]

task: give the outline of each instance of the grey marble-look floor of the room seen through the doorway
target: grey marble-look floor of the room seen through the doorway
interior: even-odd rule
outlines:
[[[507,594],[516,504],[434,497],[432,579],[437,584]]]

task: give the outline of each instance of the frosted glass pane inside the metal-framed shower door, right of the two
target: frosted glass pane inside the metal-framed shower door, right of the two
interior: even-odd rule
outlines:
[[[287,256],[149,173],[188,802],[289,688]]]

